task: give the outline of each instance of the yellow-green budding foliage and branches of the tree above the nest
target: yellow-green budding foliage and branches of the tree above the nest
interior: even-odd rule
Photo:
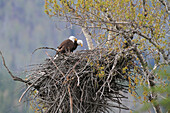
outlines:
[[[137,98],[141,102],[150,101],[156,111],[160,111],[155,104],[157,93],[153,88],[155,85],[167,85],[155,72],[169,65],[169,11],[166,1],[45,0],[45,13],[72,25],[86,27],[99,46],[113,48],[117,52],[134,47],[132,54],[136,61],[132,77],[137,85],[143,86],[142,97]],[[104,41],[106,44],[101,44]],[[122,71],[126,72],[127,68]],[[155,80],[158,82],[155,83]],[[129,83],[129,92],[136,97],[133,89]]]

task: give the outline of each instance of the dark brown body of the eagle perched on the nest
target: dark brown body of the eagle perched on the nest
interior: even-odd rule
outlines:
[[[64,40],[57,48],[58,52],[66,53],[66,52],[73,52],[77,48],[77,40],[74,42],[70,39]]]

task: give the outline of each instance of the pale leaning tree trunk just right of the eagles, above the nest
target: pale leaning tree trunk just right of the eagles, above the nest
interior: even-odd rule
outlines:
[[[89,50],[92,50],[94,48],[94,45],[93,45],[92,38],[91,38],[91,35],[90,35],[88,29],[85,27],[82,27],[82,31],[83,31],[84,36],[86,37],[86,41],[87,41]]]

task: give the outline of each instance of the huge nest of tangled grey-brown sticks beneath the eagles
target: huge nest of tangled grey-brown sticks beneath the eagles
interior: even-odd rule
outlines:
[[[128,110],[121,99],[127,98],[122,92],[128,92],[132,61],[129,51],[104,48],[49,57],[29,71],[27,97],[46,113]]]

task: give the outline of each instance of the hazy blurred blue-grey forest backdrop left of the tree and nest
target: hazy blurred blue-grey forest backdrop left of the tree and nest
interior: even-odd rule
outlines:
[[[15,75],[24,77],[21,72],[25,71],[28,65],[47,57],[44,51],[31,56],[36,48],[56,48],[70,35],[83,39],[82,34],[79,34],[81,31],[77,32],[78,28],[64,30],[64,26],[44,13],[44,1],[0,0],[0,50],[7,66]],[[57,29],[61,27],[62,30]],[[78,49],[86,48],[85,43],[83,48]],[[0,60],[0,113],[32,113],[29,104],[18,102],[24,88],[23,84],[10,78]]]

